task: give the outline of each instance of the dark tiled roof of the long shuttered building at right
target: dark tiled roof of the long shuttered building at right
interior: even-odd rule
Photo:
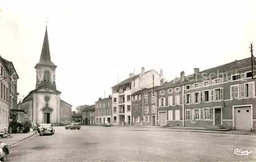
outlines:
[[[254,58],[256,59],[256,57],[254,57]],[[251,57],[248,57],[248,58],[245,58],[242,60],[236,60],[233,62],[229,62],[229,63],[223,64],[223,65],[217,66],[217,67],[208,68],[207,70],[201,71],[200,74],[204,73],[203,76],[205,77],[205,76],[209,76],[210,74],[226,73],[226,72],[230,72],[230,71],[239,70],[240,68],[245,68],[248,66],[251,66]],[[197,75],[197,79],[202,79],[203,76]],[[191,80],[193,77],[194,77],[194,74],[185,76],[184,82]],[[172,85],[176,85],[176,84],[180,84],[180,83],[181,83],[181,79],[176,78],[176,79],[173,79],[172,81],[169,81],[167,84],[159,86],[159,88],[172,86]]]

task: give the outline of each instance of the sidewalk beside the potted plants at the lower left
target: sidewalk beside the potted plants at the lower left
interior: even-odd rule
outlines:
[[[35,132],[30,129],[29,133],[11,133],[10,135],[12,135],[11,138],[0,138],[0,140],[9,145],[9,147],[35,135]]]

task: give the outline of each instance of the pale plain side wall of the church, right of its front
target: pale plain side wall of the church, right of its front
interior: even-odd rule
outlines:
[[[60,100],[60,123],[69,124],[72,120],[72,106]]]

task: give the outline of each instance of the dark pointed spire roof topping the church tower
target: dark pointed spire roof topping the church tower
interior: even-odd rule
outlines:
[[[57,67],[52,61],[51,61],[51,53],[49,48],[49,39],[48,39],[48,32],[46,27],[45,32],[45,38],[44,42],[42,43],[42,51],[39,62],[35,65],[35,68],[37,65],[47,65],[47,66],[54,66]]]

